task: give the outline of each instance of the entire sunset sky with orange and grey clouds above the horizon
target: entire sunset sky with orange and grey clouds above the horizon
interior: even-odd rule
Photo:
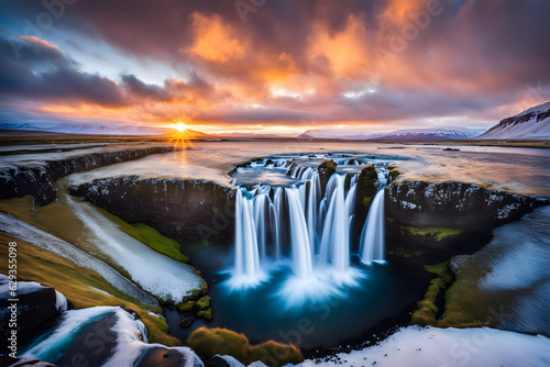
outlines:
[[[550,100],[548,0],[1,0],[0,10],[0,124],[491,127]]]

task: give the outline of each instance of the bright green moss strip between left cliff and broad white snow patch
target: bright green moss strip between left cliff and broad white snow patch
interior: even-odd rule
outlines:
[[[107,210],[96,208],[98,211],[101,212],[105,216],[108,216],[117,225],[119,226],[120,230],[122,230],[124,233],[128,235],[134,237],[135,240],[142,242],[143,244],[147,245],[148,247],[153,248],[157,253],[161,253],[163,255],[166,255],[176,262],[182,262],[185,264],[189,264],[189,258],[184,256],[179,252],[179,244],[168,237],[163,236],[158,231],[155,229],[146,225],[146,224],[134,224],[131,225],[127,222],[124,222],[122,219],[119,216],[109,213]]]

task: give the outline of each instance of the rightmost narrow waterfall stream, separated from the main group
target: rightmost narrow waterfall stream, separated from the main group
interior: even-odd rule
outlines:
[[[381,189],[374,196],[361,233],[361,262],[366,265],[371,265],[373,262],[381,262],[385,256],[384,191],[384,189]]]

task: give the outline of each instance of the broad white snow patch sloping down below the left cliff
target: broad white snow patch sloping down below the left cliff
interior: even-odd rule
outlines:
[[[91,204],[77,202],[69,196],[67,204],[88,230],[87,235],[98,251],[127,270],[145,291],[177,303],[194,289],[202,288],[204,280],[193,267],[164,256],[122,232]]]

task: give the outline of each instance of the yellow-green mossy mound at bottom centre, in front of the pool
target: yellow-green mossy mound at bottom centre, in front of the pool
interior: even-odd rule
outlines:
[[[198,329],[189,336],[187,344],[204,358],[210,358],[216,354],[230,355],[245,365],[262,360],[268,366],[283,366],[304,360],[299,349],[293,345],[273,341],[251,345],[243,334],[226,329]]]

